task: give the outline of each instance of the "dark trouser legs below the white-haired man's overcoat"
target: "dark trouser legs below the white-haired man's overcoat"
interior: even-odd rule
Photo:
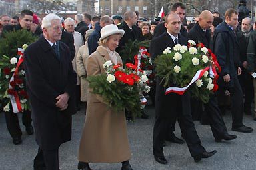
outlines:
[[[59,169],[59,149],[52,151],[38,148],[38,153],[34,159],[34,170],[58,170]]]

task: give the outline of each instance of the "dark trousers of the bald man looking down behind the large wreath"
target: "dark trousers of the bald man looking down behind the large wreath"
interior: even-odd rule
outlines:
[[[221,117],[221,111],[218,107],[217,95],[211,95],[209,102],[205,105],[205,116],[209,120],[211,131],[215,138],[221,138],[227,133],[227,127],[223,118]],[[202,115],[203,116],[203,115]]]

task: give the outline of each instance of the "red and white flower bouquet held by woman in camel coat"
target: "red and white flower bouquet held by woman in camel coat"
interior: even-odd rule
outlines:
[[[87,77],[92,93],[99,94],[107,105],[114,111],[127,109],[133,117],[140,115],[140,94],[148,93],[147,75],[136,65],[127,63],[123,68],[121,64],[113,65],[109,60],[103,64],[105,75]]]

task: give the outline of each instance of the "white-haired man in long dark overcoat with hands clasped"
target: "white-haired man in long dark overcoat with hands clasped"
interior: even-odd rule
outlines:
[[[69,48],[61,39],[61,19],[49,14],[43,36],[25,50],[25,71],[35,137],[39,145],[34,169],[59,169],[59,147],[71,140],[75,113],[75,71]]]

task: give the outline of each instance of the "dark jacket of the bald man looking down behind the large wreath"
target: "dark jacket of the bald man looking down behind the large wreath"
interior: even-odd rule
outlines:
[[[203,31],[198,23],[195,23],[194,27],[189,31],[187,39],[195,41],[195,43],[203,43],[205,47],[211,47],[211,33],[209,29]]]

